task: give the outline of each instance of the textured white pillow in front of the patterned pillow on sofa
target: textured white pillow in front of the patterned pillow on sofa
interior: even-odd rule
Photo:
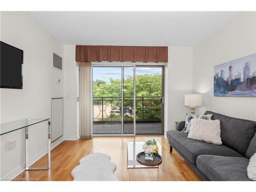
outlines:
[[[190,122],[190,131],[187,137],[189,139],[221,145],[220,120],[192,119]]]

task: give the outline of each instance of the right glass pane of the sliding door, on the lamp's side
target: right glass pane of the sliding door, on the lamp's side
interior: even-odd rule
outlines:
[[[163,134],[163,67],[136,66],[136,134]]]

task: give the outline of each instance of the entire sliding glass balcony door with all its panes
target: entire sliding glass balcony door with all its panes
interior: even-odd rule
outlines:
[[[92,71],[93,134],[163,134],[162,66],[94,66]]]

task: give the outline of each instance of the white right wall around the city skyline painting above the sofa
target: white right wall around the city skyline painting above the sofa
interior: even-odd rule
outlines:
[[[214,66],[255,53],[255,12],[242,13],[193,47],[193,90],[203,93],[205,110],[256,120],[255,97],[214,97]]]

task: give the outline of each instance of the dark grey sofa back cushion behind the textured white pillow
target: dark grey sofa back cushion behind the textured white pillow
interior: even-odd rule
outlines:
[[[211,111],[206,111],[204,114],[212,114],[212,120],[220,120],[222,143],[245,156],[250,141],[255,134],[256,122]]]

